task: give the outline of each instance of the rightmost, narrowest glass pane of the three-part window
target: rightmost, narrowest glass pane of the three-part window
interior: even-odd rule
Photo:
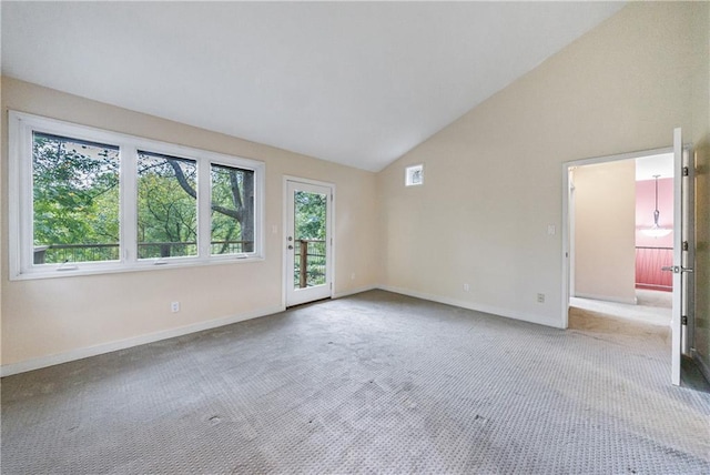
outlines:
[[[212,164],[212,255],[254,252],[254,171]]]

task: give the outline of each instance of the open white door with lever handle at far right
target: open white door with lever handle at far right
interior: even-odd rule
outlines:
[[[673,273],[673,303],[671,320],[671,380],[680,385],[680,364],[683,346],[688,346],[688,321],[692,321],[692,250],[693,243],[693,196],[692,170],[689,151],[683,150],[682,132],[673,131],[673,265],[663,267]],[[687,348],[686,348],[687,352]]]

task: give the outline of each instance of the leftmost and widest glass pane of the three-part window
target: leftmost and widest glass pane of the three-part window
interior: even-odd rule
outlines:
[[[33,263],[119,259],[119,149],[32,133]]]

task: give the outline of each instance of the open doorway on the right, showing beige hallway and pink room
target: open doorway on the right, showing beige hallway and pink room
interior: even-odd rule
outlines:
[[[610,314],[668,326],[672,279],[662,267],[673,260],[672,153],[572,166],[569,194],[575,306],[618,303]]]

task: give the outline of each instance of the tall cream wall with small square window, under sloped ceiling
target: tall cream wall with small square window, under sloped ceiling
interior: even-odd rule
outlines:
[[[707,68],[693,19],[707,9],[630,3],[381,172],[385,286],[564,325],[562,163],[692,130],[689,78]],[[424,186],[405,189],[404,168],[420,162]]]

